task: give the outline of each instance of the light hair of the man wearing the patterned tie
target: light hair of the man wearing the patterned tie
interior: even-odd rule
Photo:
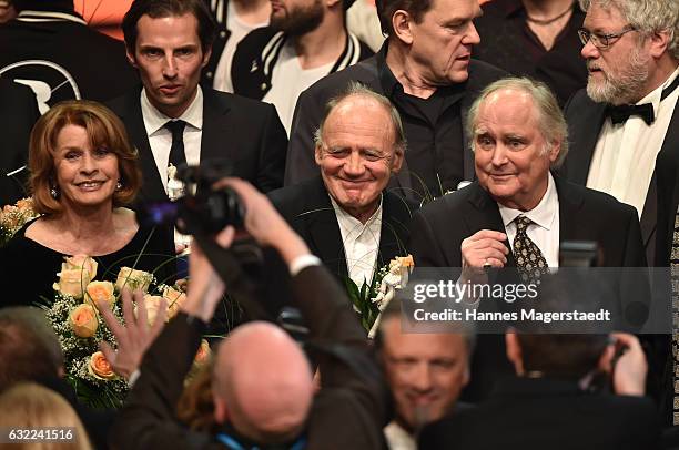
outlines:
[[[533,104],[538,112],[540,133],[547,142],[545,153],[551,150],[554,142],[561,144],[559,156],[551,163],[551,167],[559,167],[568,154],[568,125],[566,124],[566,119],[561,113],[556,96],[547,84],[527,78],[505,78],[487,85],[482,91],[474,104],[472,104],[467,115],[467,135],[469,136],[472,151],[474,151],[478,110],[482,103],[494,92],[505,89],[521,91],[530,95]]]

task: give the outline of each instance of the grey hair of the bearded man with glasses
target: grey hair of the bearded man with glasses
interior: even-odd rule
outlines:
[[[679,60],[679,1],[677,0],[579,0],[587,11],[595,3],[602,9],[615,8],[643,35],[669,32],[668,52]]]

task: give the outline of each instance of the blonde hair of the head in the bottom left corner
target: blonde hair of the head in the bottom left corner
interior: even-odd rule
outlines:
[[[92,449],[88,433],[69,402],[59,393],[33,382],[20,382],[2,392],[0,427],[21,430],[43,427],[73,429],[72,441],[24,441],[13,443],[11,448],[16,450]]]

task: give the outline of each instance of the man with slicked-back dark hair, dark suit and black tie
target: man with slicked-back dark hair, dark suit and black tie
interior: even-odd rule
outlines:
[[[136,0],[123,19],[128,59],[143,89],[113,100],[140,152],[141,200],[168,198],[169,164],[227,158],[263,192],[280,187],[285,130],[273,106],[201,88],[214,21],[201,0]]]

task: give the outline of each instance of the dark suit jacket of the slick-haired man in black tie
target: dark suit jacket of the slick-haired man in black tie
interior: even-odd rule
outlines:
[[[139,200],[168,198],[144,127],[140,90],[108,106],[121,117],[139,150],[144,175]],[[286,145],[285,129],[272,105],[203,86],[201,162],[229,158],[235,176],[268,192],[283,184]]]

